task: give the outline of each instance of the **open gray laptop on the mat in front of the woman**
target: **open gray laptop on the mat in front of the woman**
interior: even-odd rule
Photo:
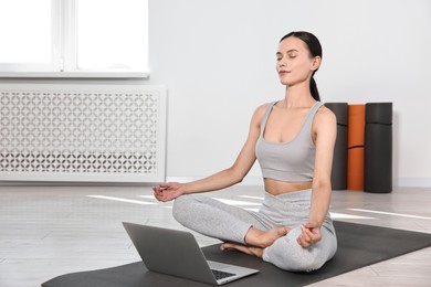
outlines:
[[[259,273],[257,269],[207,261],[190,232],[123,222],[150,272],[223,285]]]

